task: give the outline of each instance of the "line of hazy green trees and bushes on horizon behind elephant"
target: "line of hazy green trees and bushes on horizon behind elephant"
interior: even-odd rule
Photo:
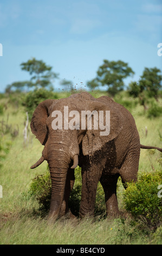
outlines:
[[[43,60],[35,58],[21,63],[20,66],[23,71],[29,73],[30,80],[9,84],[5,89],[5,94],[17,104],[21,101],[30,118],[38,103],[49,98],[58,99],[60,97],[53,86],[55,80],[59,79],[59,74],[53,71],[52,66],[47,65]],[[103,64],[96,71],[96,77],[91,81],[87,81],[87,87],[89,92],[96,91],[101,87],[105,88],[107,95],[113,97],[115,101],[121,103],[129,111],[138,103],[144,107],[144,111],[148,109],[148,117],[158,117],[162,112],[158,102],[159,97],[162,95],[161,70],[156,67],[145,68],[138,81],[131,81],[126,85],[125,79],[133,75],[134,71],[128,63],[121,60],[117,62],[103,60]],[[66,92],[80,92],[80,88],[76,88],[72,81],[68,81],[65,78],[60,80],[60,85],[64,87]],[[123,99],[123,91],[126,92],[127,99]],[[16,95],[22,92],[26,93],[19,96]],[[1,106],[0,112],[3,112],[2,108],[3,106]]]

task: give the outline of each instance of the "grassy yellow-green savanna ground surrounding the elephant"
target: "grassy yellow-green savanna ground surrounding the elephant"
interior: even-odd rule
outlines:
[[[106,95],[104,92],[92,94],[95,97]],[[66,97],[69,94],[58,95],[58,97]],[[129,98],[125,92],[116,96],[115,100],[126,101],[136,121],[141,144],[162,148],[161,116],[148,118],[144,108],[139,103],[132,105],[135,100]],[[2,133],[0,185],[3,187],[3,198],[0,198],[1,245],[159,245],[162,243],[161,225],[153,231],[146,227],[141,228],[141,221],[134,221],[129,214],[126,218],[115,220],[106,220],[102,214],[96,216],[93,221],[62,219],[49,224],[46,218],[40,215],[38,201],[27,196],[35,175],[47,171],[46,161],[36,169],[30,169],[30,166],[40,158],[43,146],[31,134],[29,125],[28,140],[24,144],[25,108],[8,97],[2,97],[0,103],[4,106],[0,115]],[[161,106],[161,99],[158,104]],[[160,169],[158,161],[160,157],[160,152],[157,150],[141,149],[139,173],[153,173],[154,170]],[[125,212],[124,188],[120,179],[117,193],[120,211]]]

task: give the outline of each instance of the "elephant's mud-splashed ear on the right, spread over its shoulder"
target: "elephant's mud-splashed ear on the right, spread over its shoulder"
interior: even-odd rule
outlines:
[[[93,106],[93,110],[98,111],[98,117],[100,122],[100,111],[103,111],[103,125],[105,126],[107,124],[107,131],[108,135],[104,135],[105,129],[99,129],[94,130],[94,125],[92,125],[92,130],[87,130],[86,135],[83,137],[82,140],[82,152],[83,155],[93,155],[96,150],[100,150],[107,142],[112,141],[114,138],[116,138],[119,133],[121,132],[123,125],[122,125],[122,117],[121,113],[116,111],[113,107],[108,106],[106,103],[103,102],[93,102],[90,106]],[[90,107],[90,109],[92,109]],[[92,110],[91,110],[92,111]],[[109,125],[106,121],[106,111],[107,117],[109,113]],[[93,123],[93,122],[92,122]]]

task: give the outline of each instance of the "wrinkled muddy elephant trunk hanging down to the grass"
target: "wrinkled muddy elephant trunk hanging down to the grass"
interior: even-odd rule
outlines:
[[[57,133],[50,135],[48,142],[47,161],[51,177],[49,218],[53,220],[65,214],[67,205],[64,205],[64,192],[68,169],[69,167],[74,169],[78,164],[77,137],[73,141],[70,141],[71,138],[72,136],[68,136],[67,133],[57,131]]]

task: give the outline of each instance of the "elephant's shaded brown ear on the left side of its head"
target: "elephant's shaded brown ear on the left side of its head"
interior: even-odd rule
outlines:
[[[44,100],[35,109],[31,118],[30,128],[36,138],[45,145],[48,139],[46,119],[49,116],[49,108],[54,100]]]

